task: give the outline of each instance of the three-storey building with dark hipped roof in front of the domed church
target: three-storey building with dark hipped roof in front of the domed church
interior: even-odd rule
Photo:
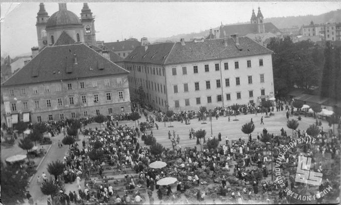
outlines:
[[[129,112],[128,73],[83,43],[47,46],[1,84],[7,123]]]

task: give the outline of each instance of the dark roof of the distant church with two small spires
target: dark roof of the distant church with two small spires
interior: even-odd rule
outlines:
[[[264,27],[265,27],[265,32],[272,32],[272,33],[280,32],[280,30],[271,22],[264,23]],[[226,37],[235,33],[238,33],[238,35],[246,35],[248,33],[258,33],[257,23],[224,25],[222,26],[221,31],[220,31],[221,37],[224,37],[224,30],[225,30]]]

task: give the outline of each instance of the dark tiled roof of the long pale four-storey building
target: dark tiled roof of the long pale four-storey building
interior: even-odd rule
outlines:
[[[227,41],[225,46],[224,41]],[[222,59],[248,55],[268,54],[272,51],[249,37],[239,37],[239,45],[236,46],[232,37],[210,39],[202,41],[165,42],[138,46],[126,58],[125,61],[149,62],[155,64],[175,64],[211,59]]]

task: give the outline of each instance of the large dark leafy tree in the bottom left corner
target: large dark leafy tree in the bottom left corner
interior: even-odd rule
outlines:
[[[1,199],[3,204],[24,203],[26,187],[29,185],[29,174],[16,169],[13,165],[5,165],[1,161]]]

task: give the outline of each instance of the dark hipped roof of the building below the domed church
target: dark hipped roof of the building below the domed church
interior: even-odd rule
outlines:
[[[74,63],[74,54],[77,57],[77,64]],[[2,85],[20,85],[127,73],[129,71],[107,60],[87,45],[77,43],[45,47]]]

